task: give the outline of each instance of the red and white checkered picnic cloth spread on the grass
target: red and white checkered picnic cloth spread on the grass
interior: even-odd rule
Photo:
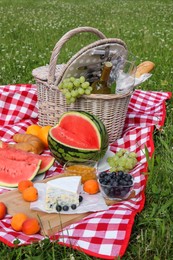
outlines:
[[[51,240],[81,250],[88,255],[102,259],[122,257],[127,249],[135,216],[145,204],[147,161],[145,146],[150,156],[154,152],[152,134],[155,128],[164,125],[166,117],[165,101],[170,92],[135,90],[129,106],[122,138],[111,144],[111,151],[120,148],[137,153],[138,164],[131,171],[134,178],[135,197],[120,201],[106,211],[92,213],[77,223],[65,227]],[[27,126],[38,122],[36,86],[32,84],[8,85],[0,87],[0,138],[12,141],[15,133],[23,133]],[[60,172],[55,163],[46,177]],[[0,189],[0,193],[9,192]],[[8,194],[7,194],[8,195]],[[19,246],[44,239],[40,234],[27,236],[15,232],[10,225],[10,215],[0,221],[0,241],[13,247],[16,239]],[[16,246],[16,245],[15,245]]]

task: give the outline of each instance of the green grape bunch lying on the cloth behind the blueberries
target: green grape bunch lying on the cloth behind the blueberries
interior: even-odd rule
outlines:
[[[120,149],[114,156],[108,157],[111,172],[124,171],[129,172],[137,164],[137,154],[126,149]]]

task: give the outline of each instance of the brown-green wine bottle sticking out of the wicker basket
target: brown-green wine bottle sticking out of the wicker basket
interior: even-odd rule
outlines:
[[[99,80],[92,83],[92,94],[111,94],[111,88],[108,86],[108,80],[112,69],[111,62],[105,62],[102,74]]]

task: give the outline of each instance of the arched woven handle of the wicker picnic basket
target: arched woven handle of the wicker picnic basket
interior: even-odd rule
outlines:
[[[54,83],[55,80],[55,69],[57,64],[57,59],[60,53],[62,46],[74,35],[81,33],[81,32],[91,32],[96,34],[100,39],[106,39],[106,36],[100,32],[98,29],[93,27],[78,27],[68,31],[61,39],[56,43],[52,55],[49,62],[49,73],[48,73],[48,85]]]

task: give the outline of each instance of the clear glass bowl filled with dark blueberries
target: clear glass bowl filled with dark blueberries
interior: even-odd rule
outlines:
[[[133,177],[123,171],[101,172],[98,182],[101,194],[108,200],[126,199],[133,188]]]

